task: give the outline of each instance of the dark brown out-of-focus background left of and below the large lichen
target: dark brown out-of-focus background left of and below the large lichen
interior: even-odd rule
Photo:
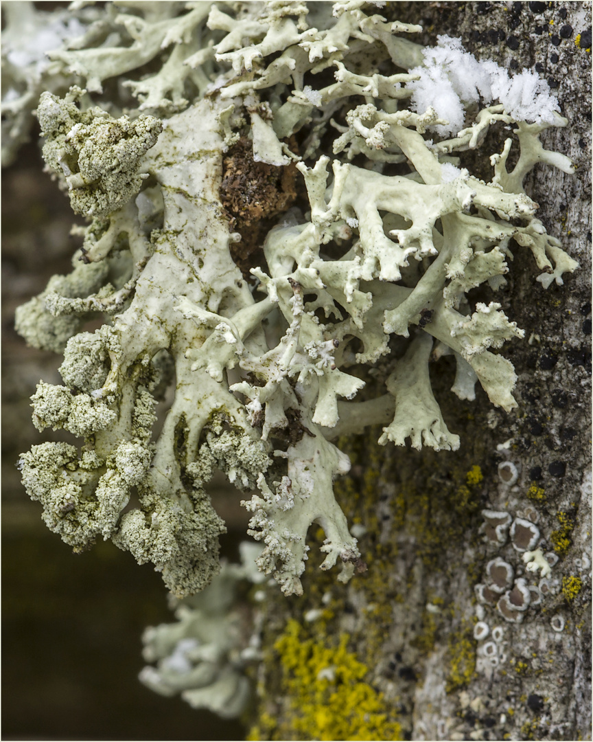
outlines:
[[[67,197],[42,172],[36,134],[2,178],[2,739],[242,740],[240,723],[137,680],[142,631],[173,621],[159,574],[110,542],[74,555],[21,485],[19,454],[67,434],[33,427],[30,395],[40,379],[61,383],[61,358],[26,347],[14,310],[70,272],[80,243]],[[235,560],[248,513],[224,482],[213,489],[229,530],[222,553]]]

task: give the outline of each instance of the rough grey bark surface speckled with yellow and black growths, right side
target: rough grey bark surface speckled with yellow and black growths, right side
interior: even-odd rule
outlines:
[[[460,36],[478,58],[549,80],[569,126],[543,140],[577,171],[536,168],[528,194],[581,267],[564,286],[545,290],[531,256],[514,250],[496,299],[526,331],[505,349],[519,375],[514,413],[491,407],[481,390],[474,402],[458,401],[448,393],[454,374],[443,358],[433,364],[433,387],[461,436],[457,453],[383,448],[377,430],[345,444],[354,465],[337,490],[349,521],[366,529],[360,545],[368,571],[344,587],[310,563],[304,597],[268,591],[251,738],[337,739],[349,720],[346,739],[590,739],[590,5],[394,3],[382,12],[422,23],[425,43],[440,33]],[[492,152],[504,137],[503,130],[491,137]],[[483,177],[491,177],[487,162]],[[378,364],[380,380],[389,370]],[[514,467],[518,478],[509,485]],[[504,543],[488,540],[485,509],[537,524],[543,552],[558,557],[547,583],[526,571],[508,531]],[[496,557],[514,573],[509,588],[521,579],[542,588],[541,600],[531,592],[520,623],[508,622],[496,602],[477,600],[475,586],[491,582],[486,569]],[[478,620],[488,626],[480,640],[474,633],[486,629],[475,628]],[[351,681],[351,697],[340,696],[338,719],[315,658],[328,651],[328,672],[345,677],[331,654],[341,634],[368,672]],[[374,736],[364,736],[364,715],[352,707],[377,690],[372,709],[386,718],[383,726],[374,719]]]

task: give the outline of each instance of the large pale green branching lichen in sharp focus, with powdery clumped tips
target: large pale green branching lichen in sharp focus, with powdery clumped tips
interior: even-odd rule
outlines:
[[[455,88],[473,57],[444,37],[423,50],[399,36],[420,27],[359,0],[114,7],[71,6],[79,38],[56,45],[41,78],[25,75],[29,97],[7,108],[37,106],[47,166],[90,220],[76,230],[83,263],[17,314],[27,341],[64,352],[64,385],[33,396],[36,426],[85,445],[33,447],[24,484],[76,549],[111,538],[186,596],[218,569],[224,525],[206,491],[218,468],[256,489],[245,506],[265,547],[258,565],[286,594],[302,592],[312,523],[325,532],[322,568],[341,559],[348,580],[364,565],[333,492],[349,460],[330,441],[379,423],[382,444],[456,449],[428,372],[446,354],[459,398],[480,381],[492,404],[516,406],[512,364],[492,350],[523,331],[468,292],[505,286],[511,240],[531,250],[544,288],[577,267],[523,190],[536,162],[572,171],[539,140],[568,122],[546,83],[493,63],[490,87],[454,91],[446,120],[436,101],[423,105],[422,85]],[[314,88],[323,70],[335,82]],[[48,76],[58,82],[43,92]],[[93,105],[107,81],[113,100]],[[526,108],[522,86],[534,91]],[[495,125],[514,129],[492,154]],[[491,157],[489,183],[463,168],[473,149]],[[261,214],[277,173],[294,206],[272,226]],[[93,312],[107,323],[79,332]],[[385,395],[354,401],[361,367],[380,358]]]

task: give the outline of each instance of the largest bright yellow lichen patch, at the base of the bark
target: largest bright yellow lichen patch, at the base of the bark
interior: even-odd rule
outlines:
[[[368,668],[348,651],[348,634],[322,643],[288,621],[274,644],[282,669],[282,691],[290,698],[282,723],[259,719],[248,739],[400,740],[401,727],[382,695],[364,678]]]

